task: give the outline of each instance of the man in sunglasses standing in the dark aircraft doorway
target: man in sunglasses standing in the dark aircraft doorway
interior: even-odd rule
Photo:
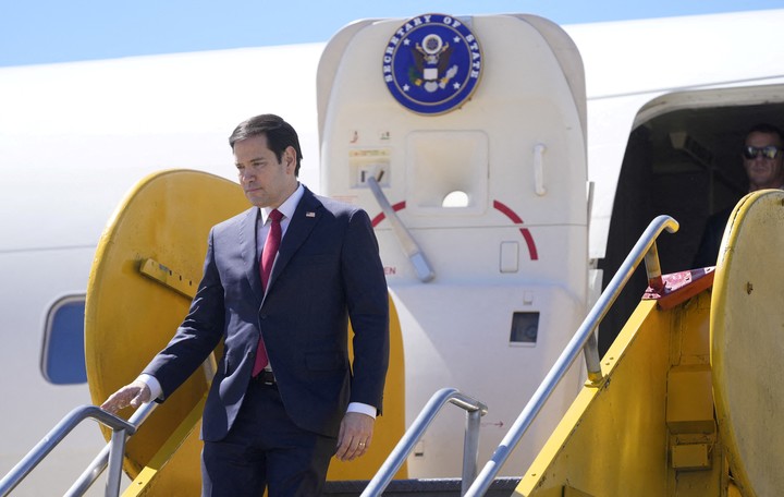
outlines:
[[[744,169],[749,180],[749,192],[784,187],[782,146],[784,146],[782,132],[772,124],[757,124],[746,134],[742,154]],[[724,228],[734,207],[733,205],[708,218],[691,267],[715,266]]]

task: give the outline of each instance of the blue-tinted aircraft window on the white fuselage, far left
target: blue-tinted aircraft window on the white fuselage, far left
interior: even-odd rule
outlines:
[[[49,311],[44,330],[41,373],[54,385],[87,381],[84,312],[84,295],[61,299]]]

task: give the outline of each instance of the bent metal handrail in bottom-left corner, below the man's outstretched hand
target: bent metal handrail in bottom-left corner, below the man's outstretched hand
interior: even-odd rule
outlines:
[[[71,411],[54,426],[13,469],[0,480],[0,496],[4,497],[13,490],[44,458],[57,447],[73,428],[87,419],[93,419],[112,429],[109,444],[109,471],[114,472],[118,464],[122,465],[125,451],[125,438],[136,432],[136,426],[96,405],[83,405]],[[118,474],[120,470],[117,471]],[[120,493],[120,478],[107,482],[106,495],[117,496]]]

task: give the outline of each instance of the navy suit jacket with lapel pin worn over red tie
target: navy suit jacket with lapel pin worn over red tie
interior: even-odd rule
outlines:
[[[201,424],[205,440],[220,440],[242,405],[260,334],[291,420],[335,437],[348,402],[375,405],[379,413],[382,407],[389,301],[370,219],[305,189],[265,294],[257,216],[253,207],[212,228],[191,311],[144,373],[158,379],[163,400],[224,340]]]

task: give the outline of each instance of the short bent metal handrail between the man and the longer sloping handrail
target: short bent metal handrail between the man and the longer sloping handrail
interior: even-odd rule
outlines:
[[[461,495],[465,495],[468,485],[477,473],[479,457],[479,422],[487,414],[487,405],[460,392],[456,388],[442,388],[433,393],[412,426],[403,435],[395,448],[373,478],[365,487],[360,497],[376,497],[387,488],[403,461],[408,457],[414,446],[425,434],[430,423],[436,419],[442,407],[453,403],[466,411],[466,431],[463,443],[463,486]]]

